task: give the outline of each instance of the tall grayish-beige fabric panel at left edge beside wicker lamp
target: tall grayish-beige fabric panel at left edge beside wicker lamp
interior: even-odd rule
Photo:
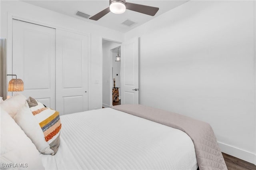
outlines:
[[[0,38],[0,96],[3,100],[7,96],[7,76],[6,76],[6,39]]]

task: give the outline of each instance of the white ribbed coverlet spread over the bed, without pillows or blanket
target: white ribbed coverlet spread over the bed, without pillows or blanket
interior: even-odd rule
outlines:
[[[50,169],[196,170],[191,138],[167,127],[111,108],[60,117],[57,154],[42,154]]]

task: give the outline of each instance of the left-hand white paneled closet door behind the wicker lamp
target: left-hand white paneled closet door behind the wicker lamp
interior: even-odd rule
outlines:
[[[55,29],[13,20],[12,38],[12,74],[24,82],[21,93],[55,109]]]

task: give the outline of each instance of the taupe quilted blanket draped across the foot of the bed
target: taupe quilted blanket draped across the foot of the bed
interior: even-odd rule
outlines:
[[[194,142],[200,170],[227,170],[215,134],[208,123],[143,105],[117,105],[112,108],[182,130]]]

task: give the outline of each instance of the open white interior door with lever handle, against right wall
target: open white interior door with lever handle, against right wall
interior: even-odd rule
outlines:
[[[122,43],[121,46],[121,104],[139,103],[139,44],[138,38]]]

